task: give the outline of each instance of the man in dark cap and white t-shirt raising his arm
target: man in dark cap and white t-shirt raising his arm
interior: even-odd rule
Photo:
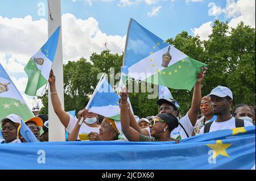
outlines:
[[[197,75],[197,82],[193,90],[193,98],[191,103],[191,108],[187,114],[179,120],[179,126],[176,127],[171,132],[171,138],[175,140],[181,140],[187,137],[191,137],[193,127],[196,124],[197,116],[201,105],[201,81],[204,78],[204,68],[203,71]],[[158,105],[160,106],[159,113],[171,113],[174,116],[179,115],[179,111],[176,107],[176,100],[174,99],[159,99]]]

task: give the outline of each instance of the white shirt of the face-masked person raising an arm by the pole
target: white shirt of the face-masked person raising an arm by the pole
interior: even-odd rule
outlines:
[[[69,133],[72,132],[72,130],[75,127],[76,123],[77,123],[77,118],[69,115],[69,123],[68,123],[68,127],[66,128]],[[79,134],[81,134],[81,133],[90,133],[90,132],[99,133],[100,132],[99,129],[100,129],[100,127],[98,127],[98,128],[89,127],[85,123],[82,123],[82,125],[81,125],[81,127],[79,129]],[[77,140],[80,140],[79,136],[77,137]]]

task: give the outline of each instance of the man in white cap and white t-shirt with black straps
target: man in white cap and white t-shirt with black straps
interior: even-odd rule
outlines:
[[[207,97],[210,97],[212,110],[214,115],[217,115],[217,119],[211,123],[205,124],[205,126],[200,129],[200,134],[253,125],[249,121],[235,119],[230,114],[230,108],[233,103],[233,94],[228,87],[217,86],[209,95],[207,95]]]

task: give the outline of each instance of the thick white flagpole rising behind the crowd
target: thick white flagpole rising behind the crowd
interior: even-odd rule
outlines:
[[[59,43],[52,70],[56,77],[57,94],[64,108],[63,88],[63,56],[62,56],[62,33],[61,33],[61,8],[60,0],[48,0],[48,37],[60,26]],[[49,90],[49,87],[48,87]],[[65,141],[65,128],[53,111],[51,95],[48,94],[48,117],[49,117],[49,141]]]

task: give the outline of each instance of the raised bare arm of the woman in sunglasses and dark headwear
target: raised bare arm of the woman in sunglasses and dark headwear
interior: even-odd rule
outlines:
[[[125,137],[129,141],[139,141],[139,132],[134,128],[130,127],[130,113],[129,113],[129,103],[127,102],[128,93],[121,92],[120,93],[120,117],[121,117],[121,127],[122,132],[125,134]]]

